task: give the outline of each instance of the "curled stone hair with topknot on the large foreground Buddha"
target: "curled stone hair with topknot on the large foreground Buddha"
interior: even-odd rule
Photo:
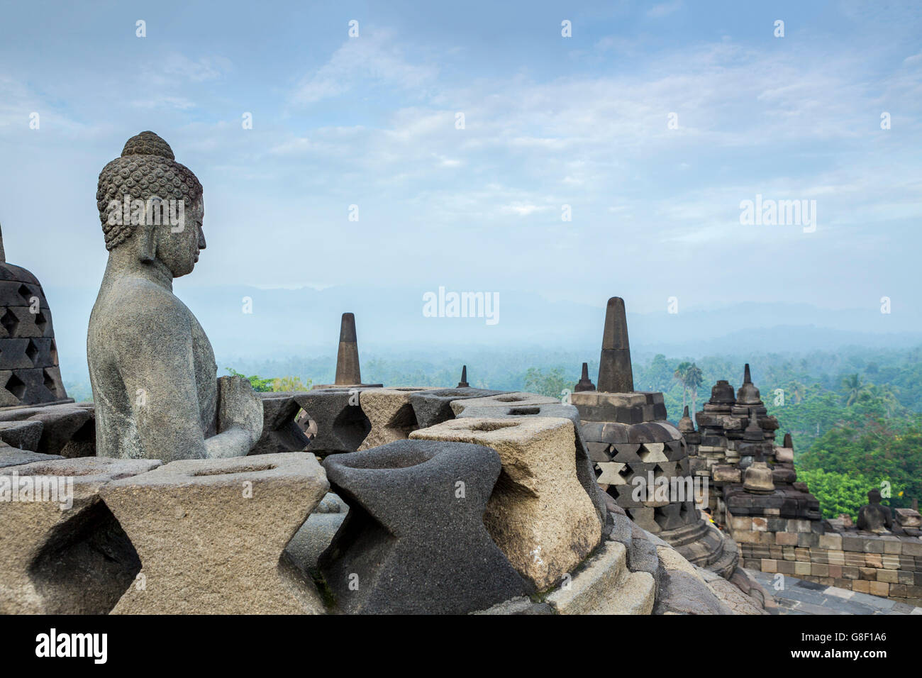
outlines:
[[[130,223],[110,224],[109,204],[122,203],[124,196],[144,200],[183,199],[192,203],[202,195],[202,184],[195,174],[175,160],[170,144],[153,132],[141,132],[125,142],[122,156],[102,168],[96,190],[96,207],[100,210],[106,249],[112,250],[131,237]]]

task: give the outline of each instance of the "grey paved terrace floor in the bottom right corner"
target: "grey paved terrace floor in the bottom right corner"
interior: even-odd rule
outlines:
[[[922,607],[857,593],[806,579],[785,576],[785,589],[774,590],[774,574],[747,570],[762,588],[772,594],[777,607],[773,614],[922,614]]]

